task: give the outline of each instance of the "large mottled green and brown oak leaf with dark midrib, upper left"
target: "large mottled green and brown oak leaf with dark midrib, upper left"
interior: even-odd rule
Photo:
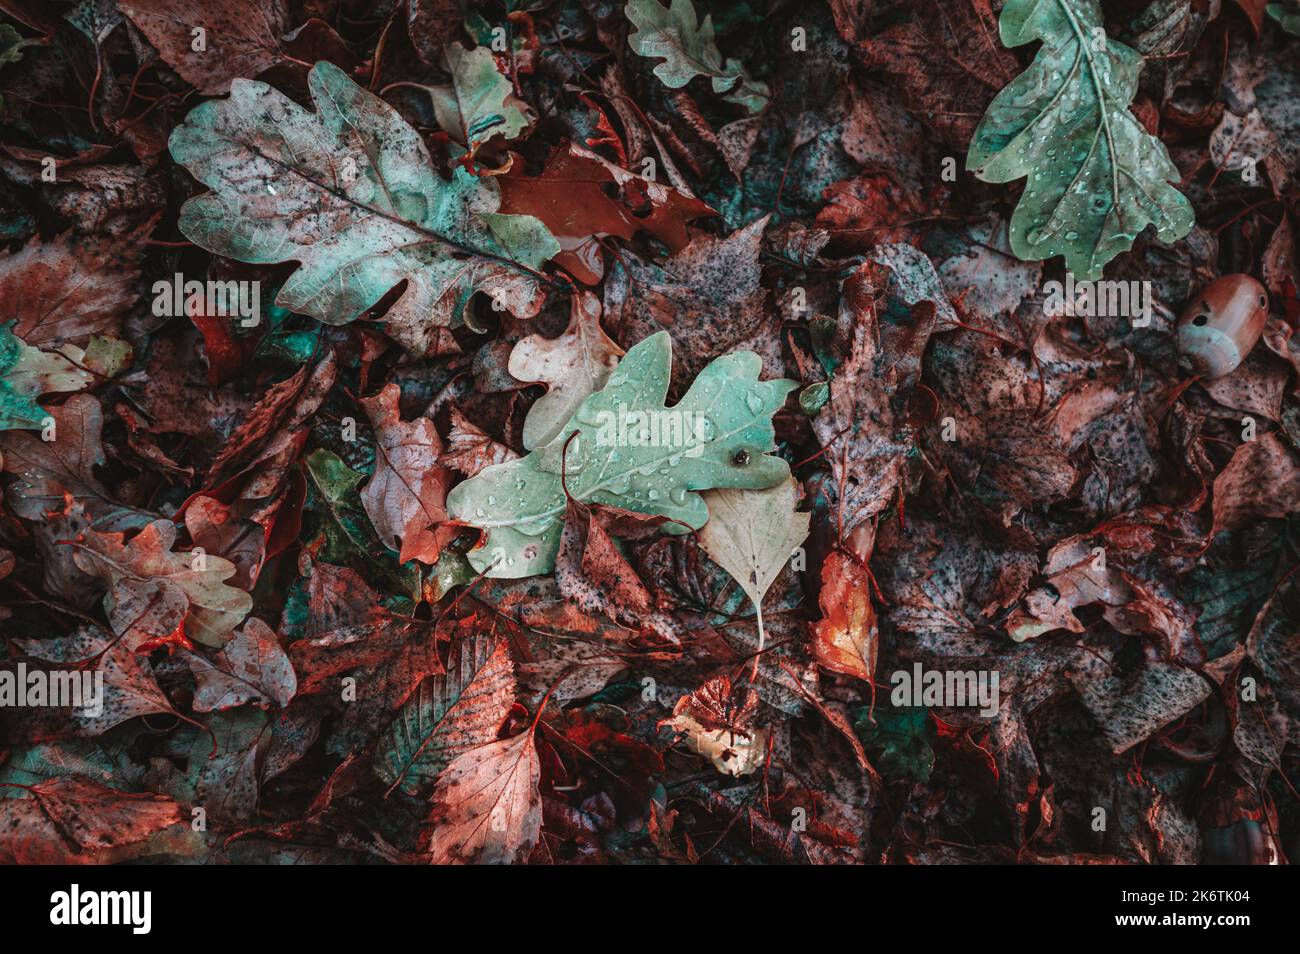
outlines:
[[[498,214],[490,178],[458,166],[442,179],[420,135],[338,66],[317,62],[308,88],[316,112],[237,79],[173,130],[172,156],[213,190],[181,209],[190,240],[239,261],[298,261],[276,303],[332,325],[407,282],[385,324],[415,355],[476,291],[516,317],[538,312],[537,269],[559,252],[546,226]]]

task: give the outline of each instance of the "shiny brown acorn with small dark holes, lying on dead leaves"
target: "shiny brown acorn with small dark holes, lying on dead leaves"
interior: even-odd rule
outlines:
[[[1221,378],[1245,360],[1264,334],[1269,295],[1244,274],[1210,282],[1178,320],[1182,364],[1205,378]]]

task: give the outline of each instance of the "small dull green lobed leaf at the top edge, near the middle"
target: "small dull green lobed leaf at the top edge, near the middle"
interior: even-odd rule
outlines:
[[[629,0],[623,12],[636,26],[628,36],[633,52],[663,60],[654,74],[671,90],[696,77],[710,77],[714,92],[728,94],[724,99],[751,113],[760,112],[771,97],[767,83],[750,79],[738,60],[723,62],[712,17],[699,22],[690,0],[671,1],[671,6],[662,6],[656,0]]]

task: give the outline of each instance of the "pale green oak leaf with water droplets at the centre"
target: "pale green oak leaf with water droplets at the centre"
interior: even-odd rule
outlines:
[[[456,485],[447,512],[485,530],[482,546],[469,551],[474,569],[491,577],[549,573],[564,525],[566,487],[584,503],[677,521],[664,529],[684,533],[708,519],[697,491],[760,490],[789,476],[789,465],[767,451],[772,415],[793,381],[759,381],[758,355],[741,351],[710,363],[668,408],[671,367],[668,333],[646,338],[554,441]]]

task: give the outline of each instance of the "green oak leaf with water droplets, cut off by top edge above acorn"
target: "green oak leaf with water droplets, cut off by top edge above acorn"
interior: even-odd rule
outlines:
[[[1026,178],[1011,216],[1011,251],[1063,255],[1092,281],[1149,224],[1162,242],[1195,225],[1174,188],[1178,169],[1128,110],[1141,56],[1109,39],[1096,0],[1008,0],[1004,45],[1043,40],[1034,62],[980,121],[966,168],[985,182]]]

